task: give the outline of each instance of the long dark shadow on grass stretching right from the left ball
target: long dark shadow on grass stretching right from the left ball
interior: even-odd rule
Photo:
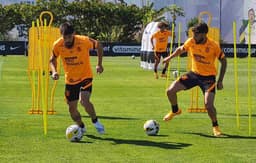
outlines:
[[[86,135],[88,138],[103,140],[103,141],[112,141],[115,144],[131,144],[138,146],[150,146],[150,147],[158,147],[164,149],[183,149],[185,147],[191,146],[191,144],[187,143],[171,143],[171,142],[154,142],[148,140],[126,140],[126,139],[116,139],[116,138],[101,138],[94,135]]]

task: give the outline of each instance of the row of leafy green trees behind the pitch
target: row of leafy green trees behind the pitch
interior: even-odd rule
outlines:
[[[0,40],[8,39],[6,34],[15,25],[22,24],[28,30],[32,21],[36,21],[42,11],[50,11],[53,14],[52,26],[59,27],[61,23],[69,21],[78,34],[104,42],[126,43],[139,42],[141,31],[146,24],[164,19],[161,17],[164,12],[184,16],[183,9],[176,5],[154,10],[153,3],[138,7],[125,3],[103,3],[101,0],[37,0],[36,5],[0,5]],[[44,19],[49,22],[50,17],[45,16]]]

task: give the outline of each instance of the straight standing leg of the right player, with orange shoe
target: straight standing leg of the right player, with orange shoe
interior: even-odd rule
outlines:
[[[214,136],[220,136],[221,131],[219,129],[219,124],[217,120],[217,112],[216,108],[214,106],[214,98],[215,98],[215,93],[214,92],[205,92],[204,95],[204,103],[205,103],[205,108],[207,109],[208,116],[210,117],[212,121],[212,127],[213,127],[213,134]]]

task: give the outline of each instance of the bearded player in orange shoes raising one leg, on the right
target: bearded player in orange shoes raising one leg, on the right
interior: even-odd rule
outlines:
[[[226,72],[227,61],[219,44],[207,37],[208,26],[199,23],[193,27],[193,37],[189,38],[182,46],[178,47],[170,56],[163,60],[168,63],[172,58],[188,52],[192,60],[191,71],[174,81],[167,90],[168,100],[171,103],[171,111],[165,115],[164,121],[171,120],[181,114],[178,107],[177,92],[199,86],[204,94],[204,104],[212,121],[214,136],[220,136],[221,131],[217,121],[217,113],[214,107],[215,86],[218,90],[223,89],[223,78]],[[217,70],[215,59],[221,63],[220,74],[215,84]]]

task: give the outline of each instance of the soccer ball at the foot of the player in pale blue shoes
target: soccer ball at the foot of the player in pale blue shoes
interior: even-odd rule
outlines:
[[[78,142],[83,138],[83,133],[78,125],[70,125],[66,129],[66,138],[70,142]]]

